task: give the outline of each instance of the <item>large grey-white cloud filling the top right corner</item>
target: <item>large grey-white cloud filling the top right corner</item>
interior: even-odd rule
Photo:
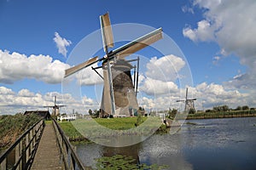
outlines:
[[[236,76],[227,85],[233,88],[252,89],[256,80],[256,2],[254,0],[195,0],[194,8],[201,8],[204,19],[196,28],[186,26],[183,36],[194,42],[213,41],[221,54],[236,54],[247,73]]]

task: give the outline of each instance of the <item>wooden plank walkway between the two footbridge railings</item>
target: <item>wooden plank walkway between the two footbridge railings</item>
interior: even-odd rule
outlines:
[[[52,124],[46,124],[31,169],[62,169]]]

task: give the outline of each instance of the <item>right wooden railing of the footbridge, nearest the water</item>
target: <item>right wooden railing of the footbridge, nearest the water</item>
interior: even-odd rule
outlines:
[[[63,162],[65,169],[84,170],[85,167],[83,163],[79,160],[79,157],[73,150],[72,144],[70,144],[65,133],[61,129],[60,125],[55,121],[55,119],[53,119],[53,125],[57,137],[57,144],[61,152],[61,161]]]

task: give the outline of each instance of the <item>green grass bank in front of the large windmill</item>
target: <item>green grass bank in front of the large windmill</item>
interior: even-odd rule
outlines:
[[[72,142],[86,140],[84,138],[85,134],[89,137],[114,137],[119,135],[148,135],[155,132],[167,132],[166,126],[161,125],[159,117],[150,118],[142,116],[140,122],[138,122],[137,117],[122,117],[111,119],[79,119],[73,122],[59,123]]]

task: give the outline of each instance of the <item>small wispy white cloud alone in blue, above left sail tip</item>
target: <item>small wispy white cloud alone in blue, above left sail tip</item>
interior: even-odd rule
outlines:
[[[62,54],[64,57],[67,57],[67,46],[72,44],[70,40],[61,37],[58,32],[55,32],[55,37],[53,40],[56,43],[56,47],[58,48],[59,54]]]

